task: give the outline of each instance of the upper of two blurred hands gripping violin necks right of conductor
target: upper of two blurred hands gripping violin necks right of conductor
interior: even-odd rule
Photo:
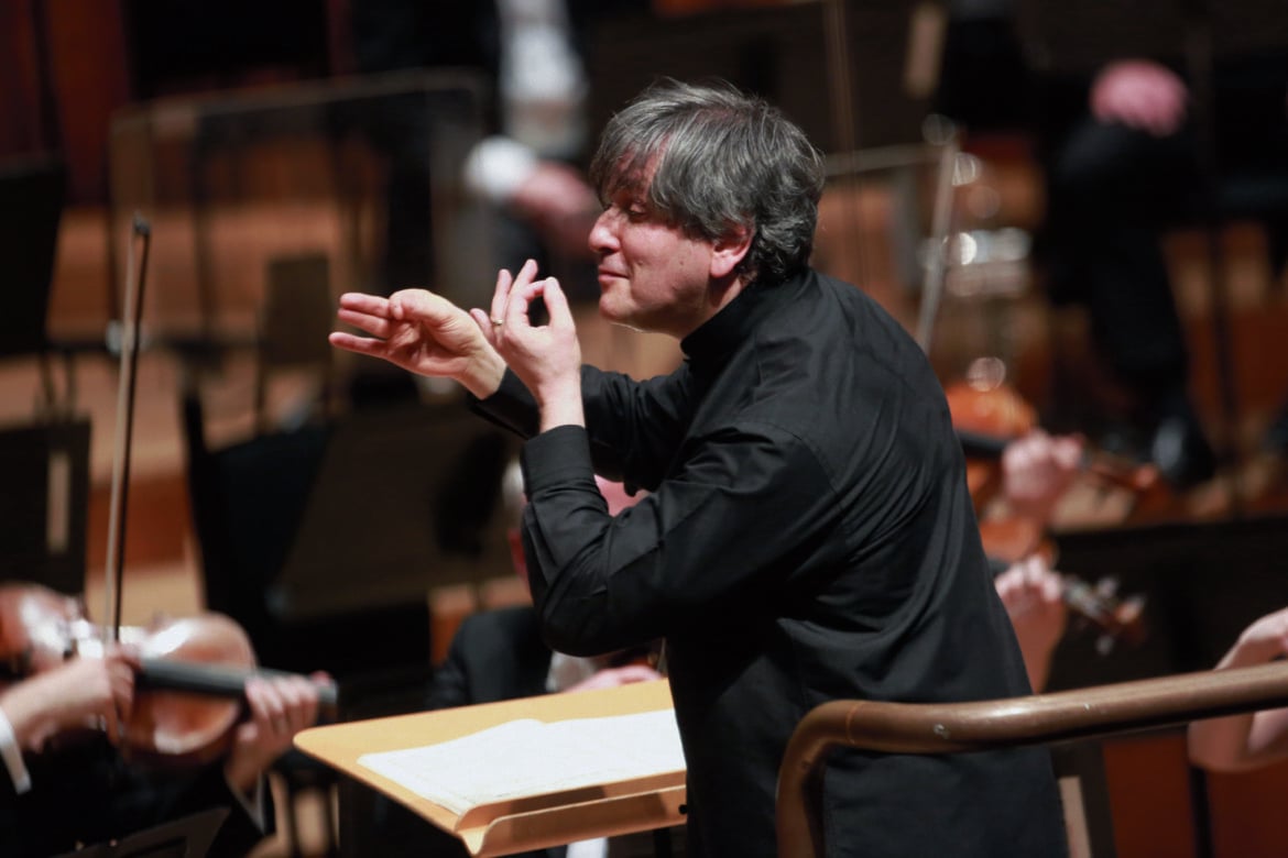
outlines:
[[[1084,443],[1074,435],[1032,430],[1002,453],[1002,493],[1016,516],[1046,524],[1082,467]]]

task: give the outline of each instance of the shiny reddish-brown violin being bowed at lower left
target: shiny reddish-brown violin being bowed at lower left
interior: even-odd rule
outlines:
[[[160,619],[121,626],[140,666],[124,754],[133,762],[205,764],[229,746],[242,720],[246,680],[283,675],[259,669],[246,632],[223,614]],[[40,584],[0,584],[0,671],[22,679],[71,657],[102,657],[108,637],[86,616],[84,602]],[[319,706],[334,715],[334,683],[314,680]]]

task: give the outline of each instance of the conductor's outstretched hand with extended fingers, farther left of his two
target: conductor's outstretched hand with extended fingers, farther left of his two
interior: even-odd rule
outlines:
[[[337,349],[381,358],[421,376],[453,378],[480,399],[501,385],[505,361],[480,324],[440,295],[402,289],[385,298],[346,292],[336,315],[370,334],[334,331],[330,342]]]

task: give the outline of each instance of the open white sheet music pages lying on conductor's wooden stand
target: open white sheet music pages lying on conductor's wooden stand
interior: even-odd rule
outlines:
[[[361,765],[460,816],[474,807],[684,771],[675,711],[513,720],[461,738],[365,754]]]

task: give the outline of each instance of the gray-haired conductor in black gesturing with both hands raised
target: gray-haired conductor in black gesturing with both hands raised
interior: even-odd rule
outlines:
[[[925,355],[809,268],[823,165],[801,130],[733,87],[662,81],[608,123],[591,178],[600,314],[679,338],[670,376],[582,367],[564,292],[531,262],[500,273],[488,311],[345,295],[340,320],[368,336],[331,341],[455,378],[528,439],[546,642],[665,638],[688,854],[773,855],[778,768],[809,710],[1024,695],[1024,665]],[[612,516],[596,473],[649,494]],[[833,855],[1065,852],[1041,749],[836,753],[823,826]]]

